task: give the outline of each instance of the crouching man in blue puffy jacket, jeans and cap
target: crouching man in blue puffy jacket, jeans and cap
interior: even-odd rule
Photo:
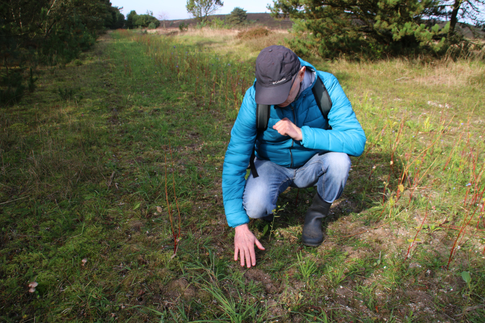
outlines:
[[[232,128],[222,171],[227,223],[235,228],[234,260],[239,256],[241,266],[256,265],[254,245],[264,247],[249,230],[249,218],[271,220],[278,195],[288,186],[317,187],[302,242],[319,246],[322,219],[349,176],[349,155],[362,154],[365,140],[332,74],[317,71],[284,46],[261,50],[256,80]],[[248,165],[251,173],[245,180]]]

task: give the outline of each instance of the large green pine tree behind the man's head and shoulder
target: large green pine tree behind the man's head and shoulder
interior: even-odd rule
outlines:
[[[442,52],[449,24],[430,24],[443,14],[441,0],[275,0],[269,8],[295,21],[292,46],[305,55],[379,58]]]

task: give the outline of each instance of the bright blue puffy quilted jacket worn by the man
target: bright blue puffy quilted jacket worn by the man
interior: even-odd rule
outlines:
[[[315,71],[311,64],[301,59],[300,62],[307,70]],[[237,227],[249,222],[243,207],[243,193],[253,147],[256,147],[258,159],[270,160],[287,168],[303,166],[320,151],[345,152],[352,156],[359,156],[364,151],[364,130],[357,121],[344,90],[332,74],[321,71],[317,73],[332,101],[328,122],[323,118],[310,86],[288,106],[271,105],[268,129],[258,134],[254,84],[246,91],[231,130],[231,140],[222,171],[222,194],[229,226]],[[315,82],[316,80],[314,84]],[[280,135],[273,129],[273,125],[283,118],[288,118],[301,128],[302,141]],[[328,129],[328,125],[331,126],[331,130],[325,130]]]

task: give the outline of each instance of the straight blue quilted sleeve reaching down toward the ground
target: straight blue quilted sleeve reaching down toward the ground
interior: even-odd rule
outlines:
[[[222,196],[227,224],[237,227],[249,223],[243,207],[246,169],[256,140],[256,102],[254,88],[246,91],[224,157],[222,170]]]

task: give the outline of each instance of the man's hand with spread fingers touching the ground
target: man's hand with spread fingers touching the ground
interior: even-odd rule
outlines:
[[[264,250],[263,245],[256,239],[254,234],[249,230],[247,224],[235,227],[236,234],[234,236],[234,261],[237,261],[237,255],[241,259],[241,266],[244,266],[244,259],[246,265],[251,268],[251,265],[256,265],[256,254],[254,252],[254,245]]]

